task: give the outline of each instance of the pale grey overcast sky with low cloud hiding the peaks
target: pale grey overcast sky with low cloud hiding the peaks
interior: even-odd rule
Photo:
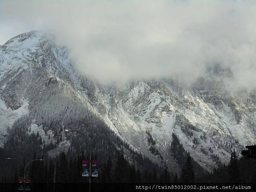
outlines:
[[[218,63],[237,87],[256,85],[253,0],[0,0],[0,44],[33,29],[54,33],[79,70],[102,82],[189,84]]]

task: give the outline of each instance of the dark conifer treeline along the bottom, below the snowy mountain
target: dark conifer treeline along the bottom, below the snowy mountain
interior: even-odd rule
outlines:
[[[36,135],[31,137],[36,138]],[[74,148],[73,150],[75,151],[76,147],[72,146],[67,153],[61,152],[55,158],[44,158],[44,156],[37,156],[34,153],[32,159],[44,158],[45,161],[31,163],[26,177],[30,178],[33,183],[52,183],[54,180],[54,170],[56,170],[55,180],[57,183],[86,183],[88,178],[81,177],[81,162],[84,159],[88,159],[88,157],[83,152],[80,155],[74,155],[71,148]],[[128,147],[128,144],[125,144],[125,146]],[[100,146],[98,147],[100,148]],[[140,154],[136,152],[131,154],[131,148],[129,152],[124,148],[121,147],[121,150],[119,150],[116,147],[115,152],[111,156],[105,156],[103,159],[100,155],[98,156],[100,158],[99,177],[93,178],[93,182],[256,182],[256,159],[244,157],[239,159],[236,151],[232,151],[228,165],[222,165],[211,173],[204,172],[200,176],[195,176],[194,160],[189,152],[186,154],[180,175],[173,175],[167,168],[160,168],[148,159],[143,158]],[[130,156],[124,153],[125,150]],[[4,154],[3,148],[0,148],[0,157],[3,157]],[[98,157],[95,154],[93,155],[93,159],[98,159]],[[24,163],[27,162],[24,161]],[[23,167],[18,162],[3,163],[1,161],[0,166],[1,170],[3,170],[0,178],[1,182],[17,182],[18,177],[23,177]],[[3,169],[3,167],[7,169]],[[13,172],[11,172],[12,168],[14,168]]]

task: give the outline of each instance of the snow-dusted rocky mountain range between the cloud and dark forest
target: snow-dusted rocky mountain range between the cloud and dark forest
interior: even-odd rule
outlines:
[[[54,140],[42,122],[61,118],[66,125],[68,114],[59,109],[67,102],[79,103],[74,116],[92,111],[145,157],[176,172],[173,134],[209,171],[227,164],[233,148],[240,152],[255,143],[256,93],[231,94],[221,88],[223,76],[232,78],[229,69],[215,65],[208,77],[186,88],[175,79],[103,85],[81,76],[68,54],[53,35],[40,31],[18,35],[0,47],[0,145],[8,127],[26,114],[35,117],[27,125],[31,131],[38,131],[45,142]],[[69,146],[63,141],[49,154]]]

